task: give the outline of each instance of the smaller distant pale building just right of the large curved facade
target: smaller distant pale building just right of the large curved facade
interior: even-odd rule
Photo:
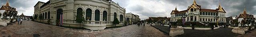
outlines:
[[[127,24],[136,24],[140,22],[140,16],[134,15],[132,13],[126,13],[125,18],[126,18]]]

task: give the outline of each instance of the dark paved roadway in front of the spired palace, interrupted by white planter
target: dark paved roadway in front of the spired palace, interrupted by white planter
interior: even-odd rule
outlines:
[[[155,25],[155,28],[169,33],[170,30],[168,26]],[[184,29],[184,34],[177,35],[176,37],[236,37],[240,34],[233,33],[232,28],[219,28],[216,30],[190,30]],[[254,32],[255,34],[255,32]]]

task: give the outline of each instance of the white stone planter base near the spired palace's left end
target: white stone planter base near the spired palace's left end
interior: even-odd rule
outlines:
[[[177,28],[170,28],[169,35],[174,37],[176,35],[181,35],[184,33],[184,28],[182,26],[177,26]]]

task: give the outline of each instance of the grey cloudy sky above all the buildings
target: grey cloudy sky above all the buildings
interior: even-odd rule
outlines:
[[[47,2],[48,0],[9,0],[10,6],[18,9],[18,14],[32,16],[34,5],[38,2]],[[133,13],[140,16],[141,20],[148,17],[170,17],[170,12],[177,6],[178,11],[186,10],[192,5],[193,0],[112,0],[121,7],[126,8],[126,13]],[[236,16],[242,13],[244,6],[247,13],[256,16],[256,0],[196,0],[196,3],[204,9],[216,9],[219,5],[227,12],[226,17]],[[6,0],[1,0],[1,6]],[[2,12],[2,11],[1,11]]]

